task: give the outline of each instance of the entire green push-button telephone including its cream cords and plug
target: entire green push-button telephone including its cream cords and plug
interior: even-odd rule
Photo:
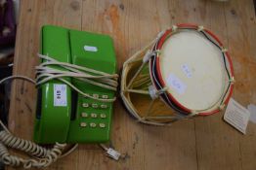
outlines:
[[[4,128],[0,130],[0,160],[24,168],[46,167],[64,156],[66,144],[77,143],[101,144],[107,155],[117,160],[121,154],[103,145],[109,141],[118,85],[112,39],[45,25],[38,55],[41,64],[36,67],[35,81],[18,75],[1,80],[0,84],[23,79],[37,86],[33,139],[37,144],[55,145],[48,149],[18,138],[0,120]],[[30,157],[13,155],[8,148]]]

